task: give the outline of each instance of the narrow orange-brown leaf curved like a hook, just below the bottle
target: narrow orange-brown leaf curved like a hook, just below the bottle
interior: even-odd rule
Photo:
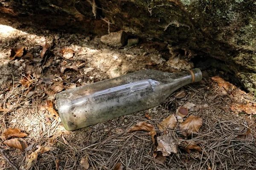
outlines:
[[[154,136],[157,134],[157,132],[154,130],[153,125],[150,125],[146,122],[138,122],[134,127],[131,128],[131,130],[129,130],[129,132],[140,131],[140,130],[148,131],[149,132],[148,134],[152,136],[153,143],[155,143]]]

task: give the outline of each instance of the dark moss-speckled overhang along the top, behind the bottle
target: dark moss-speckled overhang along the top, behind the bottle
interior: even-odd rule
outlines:
[[[221,69],[256,91],[254,0],[0,0],[0,13],[48,29],[98,35],[123,29],[167,41],[183,57],[221,60]]]

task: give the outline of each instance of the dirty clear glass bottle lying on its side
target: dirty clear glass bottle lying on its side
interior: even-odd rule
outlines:
[[[195,82],[202,79],[199,69],[178,74],[143,70],[84,85],[58,93],[58,112],[66,130],[76,130],[157,106],[193,76]]]

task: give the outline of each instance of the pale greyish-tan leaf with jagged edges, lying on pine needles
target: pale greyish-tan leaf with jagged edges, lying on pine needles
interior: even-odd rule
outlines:
[[[165,133],[163,136],[157,136],[157,151],[161,151],[163,156],[169,156],[171,153],[177,153],[177,144],[170,133]]]

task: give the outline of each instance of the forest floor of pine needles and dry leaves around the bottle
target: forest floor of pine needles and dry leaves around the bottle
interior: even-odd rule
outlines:
[[[58,92],[143,69],[178,72],[188,64],[180,70],[171,67],[166,42],[140,40],[131,47],[111,48],[92,35],[0,21],[1,147],[20,170],[256,169],[256,98],[211,79],[228,80],[226,73],[203,70],[201,82],[178,89],[157,107],[67,131],[56,112]],[[199,131],[188,138],[180,120],[173,128],[159,129],[182,106],[189,111],[183,120],[202,119]],[[154,127],[155,144],[147,131],[129,132],[138,122]],[[21,131],[14,134],[9,128]],[[156,152],[159,137],[166,138],[166,133],[177,149],[169,156]],[[14,169],[3,155],[0,169]]]

